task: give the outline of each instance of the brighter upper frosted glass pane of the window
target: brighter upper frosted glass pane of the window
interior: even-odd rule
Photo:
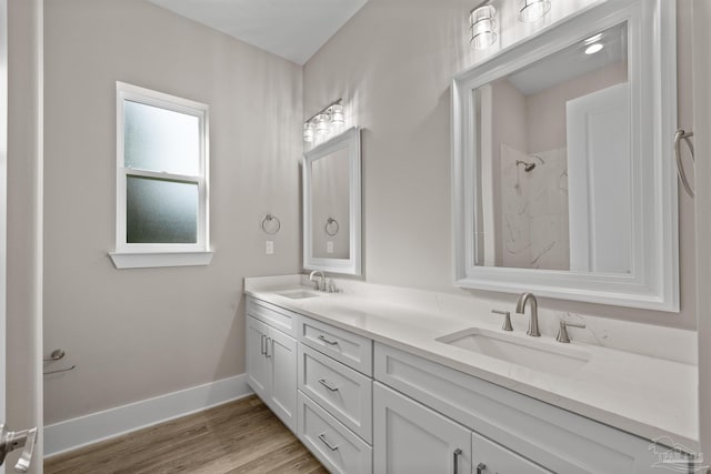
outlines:
[[[127,168],[199,174],[199,118],[124,100],[123,130]]]

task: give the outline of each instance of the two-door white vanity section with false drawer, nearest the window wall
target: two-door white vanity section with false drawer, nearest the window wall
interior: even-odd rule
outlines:
[[[298,345],[293,330],[297,317],[296,313],[248,297],[247,381],[254,393],[294,433]],[[292,334],[274,326],[291,331]]]

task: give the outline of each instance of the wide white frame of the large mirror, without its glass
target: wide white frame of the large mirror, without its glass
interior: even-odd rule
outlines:
[[[633,201],[631,274],[477,266],[477,149],[472,90],[628,22]],[[455,75],[452,83],[452,231],[454,285],[617,306],[679,312],[675,2],[610,0]]]

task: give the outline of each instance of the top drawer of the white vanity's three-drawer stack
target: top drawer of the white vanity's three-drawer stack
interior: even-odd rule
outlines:
[[[299,341],[365,375],[373,373],[373,342],[368,337],[303,317]]]

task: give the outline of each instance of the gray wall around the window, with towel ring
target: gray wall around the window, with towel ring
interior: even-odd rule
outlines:
[[[48,1],[44,48],[44,352],[78,366],[46,379],[46,423],[243,373],[242,279],[301,269],[301,68],[141,0]],[[107,256],[117,80],[210,105],[209,266]]]

